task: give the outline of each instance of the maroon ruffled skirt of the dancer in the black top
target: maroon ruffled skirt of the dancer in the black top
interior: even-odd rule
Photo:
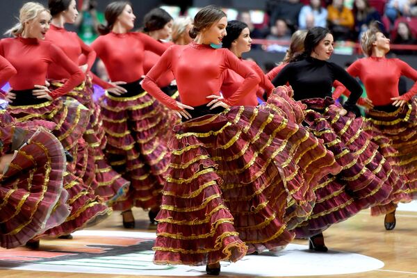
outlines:
[[[298,238],[318,234],[364,208],[391,202],[400,187],[398,174],[363,131],[361,118],[339,115],[341,106],[329,98],[302,102],[307,106],[303,124],[325,142],[343,170],[320,181],[313,213],[295,229]]]

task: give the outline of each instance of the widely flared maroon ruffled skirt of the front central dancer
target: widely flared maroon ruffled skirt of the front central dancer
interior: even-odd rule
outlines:
[[[310,184],[333,170],[332,154],[279,114],[249,106],[211,113],[174,127],[154,263],[237,261],[287,245],[288,226],[313,208]]]

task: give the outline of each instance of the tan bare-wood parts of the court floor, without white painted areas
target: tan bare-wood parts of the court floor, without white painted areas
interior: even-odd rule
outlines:
[[[154,226],[151,225],[149,227],[147,214],[140,210],[134,211],[134,214],[137,219],[136,231],[155,230]],[[384,217],[371,218],[369,211],[363,211],[350,220],[336,224],[325,231],[326,245],[330,250],[343,250],[345,252],[363,254],[385,263],[384,268],[379,270],[353,275],[330,275],[326,277],[417,277],[417,213],[398,211],[396,217],[397,227],[393,231],[385,231]],[[90,229],[124,230],[121,222],[120,214],[113,213],[110,218]],[[295,240],[295,243],[306,244],[304,240]],[[0,277],[133,278],[145,276],[0,270]]]

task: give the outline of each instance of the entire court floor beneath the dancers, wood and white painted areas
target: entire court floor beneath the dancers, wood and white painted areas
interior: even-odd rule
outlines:
[[[41,240],[39,250],[0,249],[0,277],[188,277],[204,276],[205,268],[154,265],[156,226],[136,209],[136,229],[122,227],[113,213],[95,227],[75,232],[72,240]],[[327,253],[308,250],[295,240],[281,252],[248,255],[222,263],[223,277],[417,277],[417,202],[402,204],[393,231],[384,216],[363,211],[325,231]]]

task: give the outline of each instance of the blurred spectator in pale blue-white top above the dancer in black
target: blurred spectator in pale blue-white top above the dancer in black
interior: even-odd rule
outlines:
[[[327,10],[320,0],[310,0],[310,4],[301,8],[298,16],[298,28],[309,29],[315,26],[327,26]]]

